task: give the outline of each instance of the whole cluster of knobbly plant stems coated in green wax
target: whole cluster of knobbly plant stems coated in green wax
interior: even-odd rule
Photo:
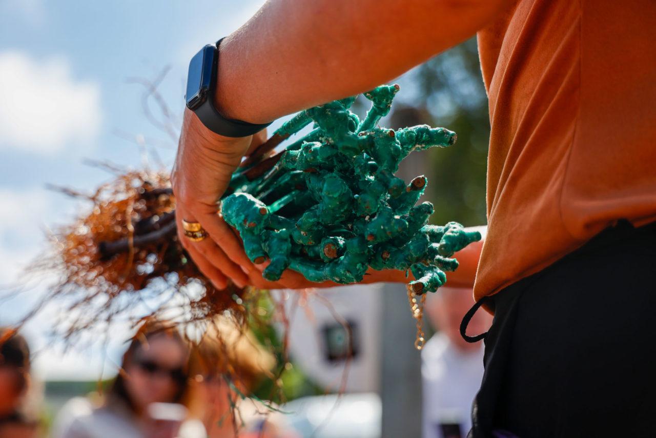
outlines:
[[[433,206],[419,202],[427,181],[407,184],[394,172],[407,154],[450,146],[455,133],[427,125],[378,127],[398,86],[365,93],[372,105],[359,121],[349,110],[355,97],[300,112],[276,131],[290,140],[279,162],[253,179],[235,173],[222,200],[253,261],[271,263],[264,277],[277,280],[288,267],[313,282],[360,282],[369,267],[411,270],[417,293],[432,292],[458,267],[449,258],[480,239],[458,223],[426,225]]]

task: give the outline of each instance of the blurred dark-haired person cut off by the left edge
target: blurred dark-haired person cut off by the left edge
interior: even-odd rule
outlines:
[[[0,328],[0,437],[39,436],[39,420],[29,406],[30,347],[11,328]]]

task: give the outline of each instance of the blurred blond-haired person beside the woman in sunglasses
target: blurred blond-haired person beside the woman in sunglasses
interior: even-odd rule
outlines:
[[[192,351],[192,415],[200,418],[209,438],[296,438],[283,416],[249,398],[276,363],[250,330],[239,330],[222,317]]]

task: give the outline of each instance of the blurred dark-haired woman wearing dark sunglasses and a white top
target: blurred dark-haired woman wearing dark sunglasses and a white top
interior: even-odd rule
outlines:
[[[184,421],[188,404],[188,343],[172,324],[147,320],[123,355],[104,402],[72,399],[54,422],[54,438],[196,438]]]

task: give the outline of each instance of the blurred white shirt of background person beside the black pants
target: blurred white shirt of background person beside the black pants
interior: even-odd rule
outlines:
[[[483,379],[483,350],[481,342],[474,351],[461,351],[442,333],[424,345],[423,438],[466,437],[472,427],[472,402]]]

